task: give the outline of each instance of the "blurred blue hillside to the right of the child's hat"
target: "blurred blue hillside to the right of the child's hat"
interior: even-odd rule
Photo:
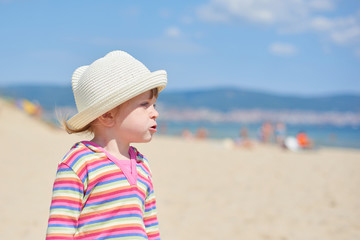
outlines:
[[[224,88],[164,92],[159,100],[166,107],[209,108],[222,112],[235,109],[360,112],[360,95],[299,97]]]

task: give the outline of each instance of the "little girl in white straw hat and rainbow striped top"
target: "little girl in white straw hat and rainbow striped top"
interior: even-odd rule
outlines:
[[[150,72],[122,51],[75,70],[78,113],[69,133],[91,132],[58,166],[46,239],[160,239],[148,160],[130,143],[157,131],[163,70]]]

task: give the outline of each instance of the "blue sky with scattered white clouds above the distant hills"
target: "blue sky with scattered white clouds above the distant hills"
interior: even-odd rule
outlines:
[[[0,0],[0,86],[70,84],[111,50],[168,90],[360,94],[359,0]]]

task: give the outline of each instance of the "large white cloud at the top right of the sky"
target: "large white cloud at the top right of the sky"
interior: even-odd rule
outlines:
[[[272,26],[278,33],[312,32],[337,45],[358,46],[360,11],[326,17],[336,11],[336,0],[209,0],[200,6],[203,21],[248,21]]]

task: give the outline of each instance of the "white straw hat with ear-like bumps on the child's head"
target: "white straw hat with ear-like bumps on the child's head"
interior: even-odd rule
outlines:
[[[73,130],[81,129],[143,92],[153,88],[160,92],[166,83],[166,71],[150,72],[128,53],[110,52],[73,73],[72,89],[78,113],[67,124]]]

